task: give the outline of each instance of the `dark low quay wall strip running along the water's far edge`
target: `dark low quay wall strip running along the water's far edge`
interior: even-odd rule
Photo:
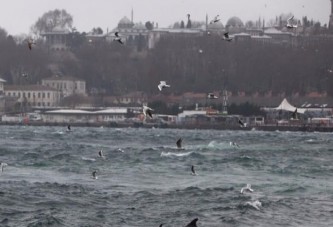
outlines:
[[[89,123],[89,122],[73,122],[73,123],[51,123],[51,122],[0,122],[0,126],[62,126],[67,125],[73,127],[106,127],[106,128],[170,128],[170,129],[202,129],[202,130],[239,130],[239,131],[299,131],[299,132],[333,132],[333,126],[313,126],[313,125],[256,125],[248,127],[239,127],[238,125],[210,125],[210,124],[154,124],[154,123],[116,123],[116,122],[101,122],[101,123]]]

